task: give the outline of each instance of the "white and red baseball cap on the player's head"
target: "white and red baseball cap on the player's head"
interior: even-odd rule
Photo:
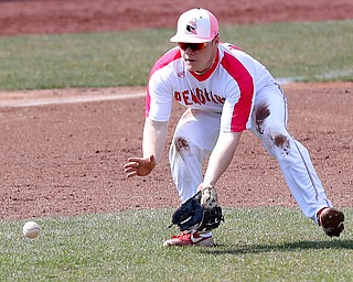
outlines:
[[[204,43],[218,34],[218,21],[210,11],[196,8],[184,12],[178,20],[176,34],[171,42]]]

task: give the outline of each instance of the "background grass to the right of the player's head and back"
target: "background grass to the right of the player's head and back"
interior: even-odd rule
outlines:
[[[353,80],[353,20],[232,26],[224,36],[263,62],[275,77]]]

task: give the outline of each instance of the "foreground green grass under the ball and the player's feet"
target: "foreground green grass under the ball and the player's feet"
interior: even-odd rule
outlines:
[[[0,221],[1,281],[352,281],[352,209],[330,238],[298,209],[227,208],[213,248],[163,248],[172,210]],[[31,278],[31,279],[29,279]]]

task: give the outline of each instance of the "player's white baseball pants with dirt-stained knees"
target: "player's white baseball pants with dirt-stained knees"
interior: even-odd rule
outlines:
[[[314,171],[308,150],[287,131],[287,101],[278,85],[256,94],[249,130],[278,161],[302,213],[317,221],[317,213],[332,207]],[[220,132],[221,115],[188,109],[176,126],[169,152],[171,173],[181,202],[203,182],[203,162]]]

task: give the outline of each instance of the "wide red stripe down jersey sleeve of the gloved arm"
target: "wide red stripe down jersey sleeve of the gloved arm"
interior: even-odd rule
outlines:
[[[254,96],[254,80],[246,67],[234,56],[224,53],[221,65],[237,82],[240,89],[240,98],[233,108],[231,123],[232,132],[240,132],[246,129],[246,123],[252,111],[252,100]]]

